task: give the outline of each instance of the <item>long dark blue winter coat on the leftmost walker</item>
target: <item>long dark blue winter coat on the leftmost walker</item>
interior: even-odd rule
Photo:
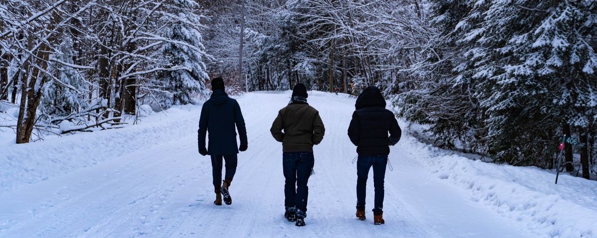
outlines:
[[[205,133],[209,132],[208,155],[238,154],[235,124],[241,137],[241,146],[247,145],[247,128],[241,107],[224,90],[214,90],[201,109],[197,139],[199,148],[205,146]]]

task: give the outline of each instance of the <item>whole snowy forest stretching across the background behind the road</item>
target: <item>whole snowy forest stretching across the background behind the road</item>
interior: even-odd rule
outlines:
[[[597,174],[590,0],[0,0],[0,130],[118,129],[147,108],[380,87],[433,145]],[[10,113],[9,113],[10,112]]]

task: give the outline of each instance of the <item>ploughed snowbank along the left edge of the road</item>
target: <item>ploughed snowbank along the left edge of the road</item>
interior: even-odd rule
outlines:
[[[200,113],[201,106],[176,106],[141,118],[140,124],[124,129],[0,145],[0,194],[168,140],[181,137],[196,140],[193,137],[196,130],[189,128],[197,127]]]

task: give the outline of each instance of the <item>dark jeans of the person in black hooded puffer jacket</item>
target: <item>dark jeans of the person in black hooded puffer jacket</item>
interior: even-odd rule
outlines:
[[[356,162],[356,208],[365,209],[367,177],[373,166],[373,186],[375,187],[375,207],[373,214],[383,213],[383,180],[386,177],[387,155],[359,156]]]

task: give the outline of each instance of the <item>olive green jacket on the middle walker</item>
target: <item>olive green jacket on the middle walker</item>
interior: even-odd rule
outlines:
[[[278,112],[270,131],[282,142],[283,152],[313,152],[313,145],[324,139],[325,128],[315,108],[309,104],[290,104]]]

